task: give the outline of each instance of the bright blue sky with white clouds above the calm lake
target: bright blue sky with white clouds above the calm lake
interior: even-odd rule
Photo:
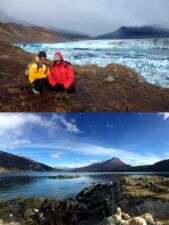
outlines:
[[[0,150],[57,167],[169,158],[169,113],[1,113]]]

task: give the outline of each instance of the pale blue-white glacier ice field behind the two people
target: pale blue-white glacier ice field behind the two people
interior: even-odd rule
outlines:
[[[169,88],[169,39],[89,40],[56,44],[19,44],[37,54],[46,51],[49,59],[61,51],[72,64],[119,63],[135,69],[147,82]]]

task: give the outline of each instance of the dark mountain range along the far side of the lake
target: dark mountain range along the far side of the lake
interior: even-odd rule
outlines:
[[[64,171],[57,167],[53,168],[37,162],[26,156],[15,155],[0,151],[1,172],[24,172],[24,171]],[[159,161],[153,165],[131,166],[119,158],[113,157],[103,162],[97,162],[85,167],[69,169],[71,172],[169,172],[169,159]]]

